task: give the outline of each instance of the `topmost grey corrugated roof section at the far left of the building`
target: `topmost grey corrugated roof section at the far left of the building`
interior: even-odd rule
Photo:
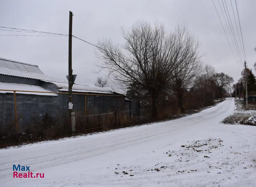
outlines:
[[[12,70],[26,71],[31,73],[44,74],[37,65],[26,64],[23,62],[18,62],[14,60],[8,60],[5,58],[0,58],[0,67],[8,68]]]

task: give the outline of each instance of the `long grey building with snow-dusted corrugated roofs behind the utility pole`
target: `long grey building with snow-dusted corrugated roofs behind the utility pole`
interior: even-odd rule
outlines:
[[[47,76],[37,65],[0,58],[0,129],[15,119],[13,91],[1,91],[3,89],[17,90],[19,126],[26,127],[30,123],[42,120],[46,114],[55,117],[68,113],[68,94],[58,94],[68,92],[67,80]],[[122,110],[123,104],[127,103],[124,102],[123,95],[113,92],[108,87],[74,84],[73,93],[78,93],[73,94],[73,109],[76,115],[84,115],[85,106],[88,115],[114,109]],[[83,94],[95,95],[87,95],[85,98]]]

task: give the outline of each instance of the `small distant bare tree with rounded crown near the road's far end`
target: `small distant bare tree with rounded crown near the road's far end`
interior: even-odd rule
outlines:
[[[219,98],[221,98],[221,92],[225,91],[225,88],[230,86],[231,83],[234,82],[234,79],[227,74],[224,73],[214,73],[213,81],[215,83],[216,88],[218,89]]]

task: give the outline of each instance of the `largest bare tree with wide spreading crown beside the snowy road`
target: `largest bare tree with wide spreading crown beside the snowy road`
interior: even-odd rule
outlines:
[[[159,23],[135,23],[129,30],[122,30],[124,45],[115,45],[110,40],[99,42],[98,55],[101,69],[120,84],[135,88],[152,99],[152,116],[157,117],[160,94],[170,91],[176,73],[174,71],[196,54],[192,36],[186,26],[177,26],[167,32]],[[178,70],[183,70],[178,68]]]

